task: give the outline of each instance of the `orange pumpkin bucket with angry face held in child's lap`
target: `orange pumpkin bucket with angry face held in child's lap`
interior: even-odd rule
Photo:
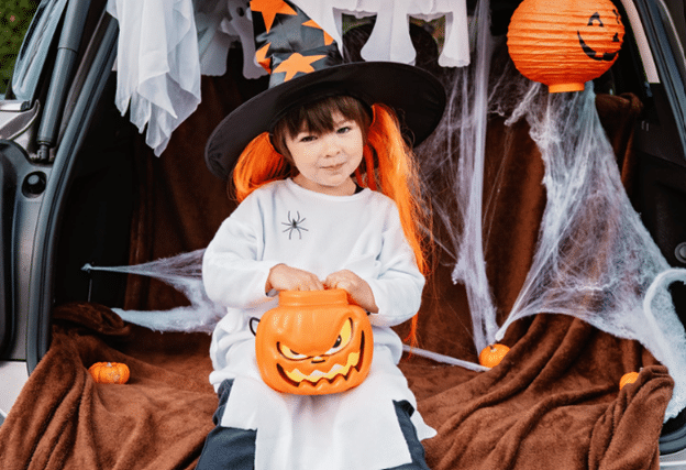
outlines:
[[[373,351],[367,313],[348,304],[343,289],[280,292],[279,306],[262,316],[255,332],[259,373],[283,393],[321,395],[357,386]]]

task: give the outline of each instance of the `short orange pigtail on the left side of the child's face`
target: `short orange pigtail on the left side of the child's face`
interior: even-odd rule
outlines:
[[[267,183],[295,176],[292,166],[274,150],[269,134],[263,132],[245,146],[233,170],[233,185],[239,203]]]

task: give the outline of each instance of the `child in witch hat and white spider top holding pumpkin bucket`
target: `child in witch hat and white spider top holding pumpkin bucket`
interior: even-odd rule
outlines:
[[[262,25],[255,12],[253,21]],[[198,469],[428,469],[420,440],[435,431],[416,411],[390,329],[421,302],[418,176],[386,105],[421,140],[440,119],[443,90],[410,66],[317,61],[321,69],[273,80],[208,143],[208,164],[220,176],[244,150],[233,170],[241,204],[203,259],[206,291],[228,314],[212,336],[210,381],[220,405]],[[274,58],[269,68],[274,79]],[[408,88],[399,94],[394,80]],[[425,107],[413,105],[418,97],[428,98]],[[278,291],[322,288],[343,288],[370,313],[369,374],[330,395],[276,392],[259,375],[250,320],[276,306]]]

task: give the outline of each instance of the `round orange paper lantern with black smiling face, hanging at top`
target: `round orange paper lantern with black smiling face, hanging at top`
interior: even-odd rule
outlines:
[[[582,91],[615,63],[624,26],[610,0],[524,0],[508,29],[508,51],[527,78],[550,92]]]

